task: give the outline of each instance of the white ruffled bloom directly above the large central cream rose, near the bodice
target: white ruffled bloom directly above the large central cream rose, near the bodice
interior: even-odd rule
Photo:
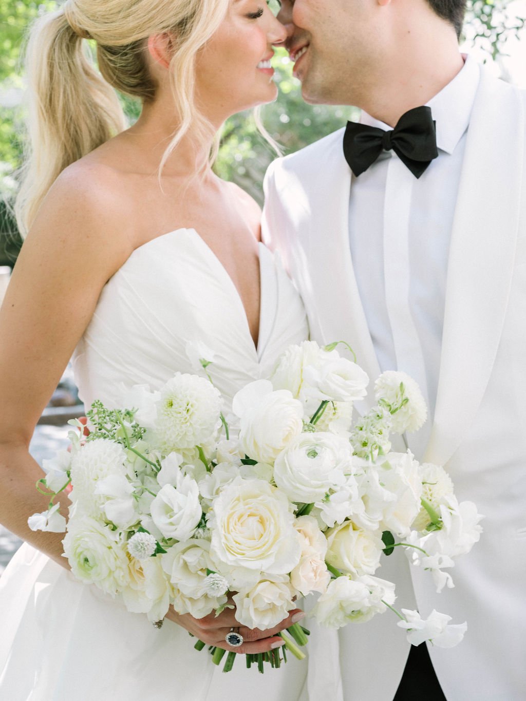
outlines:
[[[252,460],[274,463],[303,430],[303,406],[288,390],[272,389],[268,380],[250,382],[232,402],[240,418],[239,444]]]

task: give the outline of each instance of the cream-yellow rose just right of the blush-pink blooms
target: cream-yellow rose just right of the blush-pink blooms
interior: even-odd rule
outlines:
[[[352,575],[374,574],[380,564],[384,543],[375,533],[358,529],[346,521],[326,531],[328,564]]]

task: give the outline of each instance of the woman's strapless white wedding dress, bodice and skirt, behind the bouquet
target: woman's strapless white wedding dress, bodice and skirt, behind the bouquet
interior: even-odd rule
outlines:
[[[137,248],[102,290],[74,356],[86,407],[119,406],[123,389],[158,388],[194,372],[187,342],[215,353],[217,388],[231,397],[268,376],[290,343],[306,338],[302,303],[278,259],[259,245],[261,310],[255,348],[239,294],[194,229]],[[306,660],[281,669],[246,669],[240,655],[222,674],[186,630],[156,630],[29,545],[0,578],[2,701],[304,701]]]

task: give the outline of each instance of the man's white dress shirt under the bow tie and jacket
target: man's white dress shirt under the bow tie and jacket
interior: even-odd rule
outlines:
[[[412,376],[429,407],[426,428],[412,445],[417,458],[436,403],[447,258],[479,76],[478,64],[467,57],[459,74],[428,102],[438,158],[419,179],[393,151],[352,177],[351,257],[379,366]],[[360,121],[391,129],[366,113]]]

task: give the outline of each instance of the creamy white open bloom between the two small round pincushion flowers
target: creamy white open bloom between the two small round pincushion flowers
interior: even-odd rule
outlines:
[[[177,613],[190,613],[194,618],[203,618],[226,603],[225,591],[215,596],[207,593],[207,570],[214,568],[208,540],[194,538],[177,543],[163,554],[161,562],[173,585]]]

